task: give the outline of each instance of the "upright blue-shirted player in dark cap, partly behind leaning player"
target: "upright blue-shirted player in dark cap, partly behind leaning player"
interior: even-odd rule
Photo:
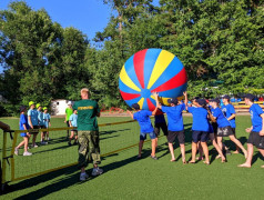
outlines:
[[[230,103],[230,96],[223,97],[223,106],[221,107],[222,112],[224,113],[225,118],[230,121],[231,128],[235,136],[235,108],[233,104]],[[240,153],[238,146],[235,146],[236,150],[233,153]]]

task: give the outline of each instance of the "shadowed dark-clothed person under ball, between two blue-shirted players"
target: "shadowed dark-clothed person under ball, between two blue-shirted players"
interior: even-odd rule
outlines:
[[[161,110],[158,110],[155,113],[154,120],[154,132],[156,136],[156,146],[158,146],[158,137],[160,136],[160,130],[163,131],[163,134],[167,137],[167,126],[164,114]]]

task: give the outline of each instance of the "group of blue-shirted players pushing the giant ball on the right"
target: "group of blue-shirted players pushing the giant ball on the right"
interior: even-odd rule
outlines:
[[[140,124],[140,143],[138,159],[142,158],[142,148],[146,136],[149,134],[152,140],[151,158],[158,160],[155,149],[158,147],[158,137],[160,129],[163,130],[167,138],[167,144],[171,153],[171,161],[175,161],[173,143],[177,138],[182,162],[196,163],[197,160],[203,160],[205,164],[210,164],[207,140],[219,152],[216,159],[221,158],[222,162],[226,162],[226,153],[230,153],[229,148],[223,143],[223,138],[229,137],[235,143],[236,150],[233,153],[243,152],[246,161],[238,167],[251,168],[254,146],[258,149],[264,157],[264,112],[262,108],[254,103],[255,97],[253,94],[245,96],[245,104],[250,106],[250,113],[252,119],[252,127],[245,131],[250,133],[247,140],[247,150],[243,147],[235,136],[235,109],[230,103],[230,97],[222,98],[223,106],[220,107],[220,99],[215,98],[209,102],[201,98],[195,98],[192,103],[187,103],[187,93],[183,92],[184,102],[179,101],[176,98],[167,100],[170,106],[163,106],[159,102],[159,93],[154,92],[153,96],[156,100],[156,106],[153,111],[141,110],[138,103],[132,104],[135,112],[128,111],[130,117],[136,120]],[[185,158],[185,133],[182,112],[183,110],[193,116],[192,124],[192,157],[189,162]],[[164,118],[166,113],[167,126]],[[151,123],[150,117],[155,117],[154,128]],[[196,153],[200,153],[196,157]],[[264,168],[264,166],[262,166]]]

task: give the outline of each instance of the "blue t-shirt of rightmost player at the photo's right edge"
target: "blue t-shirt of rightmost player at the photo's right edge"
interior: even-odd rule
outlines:
[[[251,121],[252,121],[252,131],[260,132],[262,130],[262,117],[263,110],[258,104],[253,103],[250,108]]]

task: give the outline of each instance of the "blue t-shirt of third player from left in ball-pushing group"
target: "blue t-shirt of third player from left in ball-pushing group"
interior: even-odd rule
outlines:
[[[187,107],[187,111],[193,114],[192,130],[209,132],[207,110],[201,107]]]

